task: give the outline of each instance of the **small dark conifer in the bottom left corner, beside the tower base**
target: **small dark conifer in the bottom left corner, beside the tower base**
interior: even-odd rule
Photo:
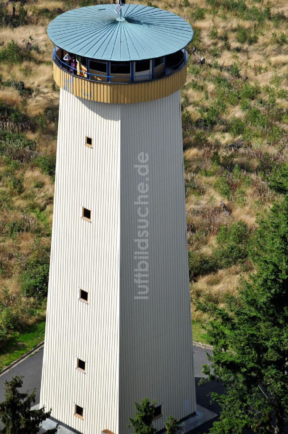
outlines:
[[[45,411],[44,407],[31,410],[31,403],[35,404],[36,391],[31,395],[28,392],[20,393],[17,389],[22,385],[23,376],[5,381],[5,400],[0,403],[0,417],[4,424],[1,434],[37,434],[42,422],[51,414],[51,410]],[[57,431],[58,424],[46,434],[56,434]]]

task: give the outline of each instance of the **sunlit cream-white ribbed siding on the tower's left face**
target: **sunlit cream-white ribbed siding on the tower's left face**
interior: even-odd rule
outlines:
[[[119,106],[61,89],[41,405],[87,434],[117,431]],[[93,148],[84,145],[85,135]],[[92,223],[81,219],[82,206]],[[113,252],[113,253],[112,253]],[[89,304],[79,301],[79,287]],[[87,373],[76,370],[76,358]],[[74,416],[84,407],[84,420]]]

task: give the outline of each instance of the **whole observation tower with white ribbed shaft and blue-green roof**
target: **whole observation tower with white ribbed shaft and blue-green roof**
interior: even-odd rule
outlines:
[[[139,4],[70,10],[47,31],[60,107],[40,405],[75,432],[128,434],[148,396],[162,430],[196,409],[180,105],[193,31]]]

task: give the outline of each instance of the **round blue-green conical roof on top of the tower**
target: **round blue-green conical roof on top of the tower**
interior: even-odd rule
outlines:
[[[184,48],[193,30],[175,13],[139,4],[81,7],[57,16],[49,39],[69,53],[91,59],[129,61],[167,56]]]

